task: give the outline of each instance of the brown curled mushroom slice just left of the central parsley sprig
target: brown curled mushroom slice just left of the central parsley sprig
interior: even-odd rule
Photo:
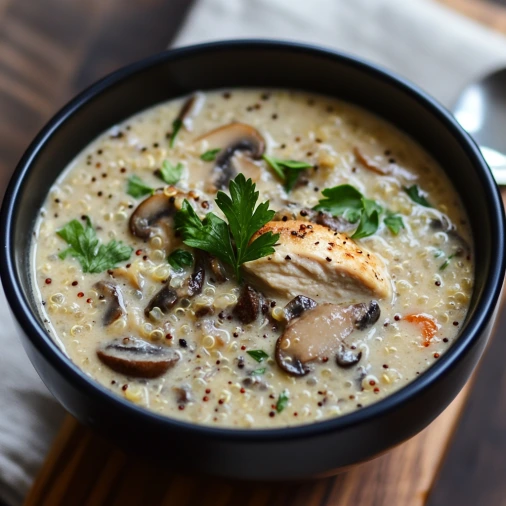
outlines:
[[[176,213],[175,197],[167,197],[162,191],[142,201],[130,216],[130,232],[148,240],[161,235],[166,243],[174,235],[172,216]]]

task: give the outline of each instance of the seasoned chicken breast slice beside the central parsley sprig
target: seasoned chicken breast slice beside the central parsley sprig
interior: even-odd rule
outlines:
[[[270,221],[253,236],[280,234],[276,252],[243,265],[267,295],[305,295],[318,302],[388,299],[392,282],[382,259],[344,233],[307,221]]]

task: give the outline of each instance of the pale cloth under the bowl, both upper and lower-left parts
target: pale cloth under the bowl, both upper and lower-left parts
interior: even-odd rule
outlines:
[[[411,79],[446,105],[506,65],[506,38],[431,0],[200,0],[176,45],[225,38],[300,40]],[[0,498],[18,506],[62,418],[19,343],[0,294]]]

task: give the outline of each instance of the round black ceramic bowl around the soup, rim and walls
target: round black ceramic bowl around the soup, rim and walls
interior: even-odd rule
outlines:
[[[79,370],[44,331],[30,278],[30,239],[45,196],[68,162],[110,126],[193,90],[297,88],[331,95],[387,119],[430,152],[469,213],[476,283],[467,321],[437,363],[390,397],[341,418],[273,430],[183,423],[141,409]],[[70,217],[69,217],[70,218]],[[504,275],[502,202],[476,145],[412,85],[357,59],[316,47],[220,42],[155,55],[106,77],[59,112],[22,158],[1,216],[0,273],[23,345],[54,396],[81,422],[166,465],[247,479],[321,475],[410,438],[452,401],[487,343]]]

